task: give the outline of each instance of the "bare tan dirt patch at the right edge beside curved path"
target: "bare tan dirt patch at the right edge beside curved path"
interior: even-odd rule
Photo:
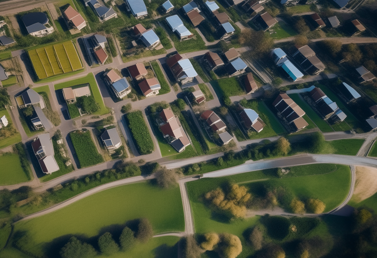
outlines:
[[[360,202],[377,192],[377,169],[356,167],[356,183],[352,200]]]

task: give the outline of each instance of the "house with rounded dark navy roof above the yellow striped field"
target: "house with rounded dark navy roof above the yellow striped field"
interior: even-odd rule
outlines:
[[[22,21],[28,33],[32,36],[43,37],[54,32],[54,27],[48,25],[48,18],[44,12],[25,14]]]

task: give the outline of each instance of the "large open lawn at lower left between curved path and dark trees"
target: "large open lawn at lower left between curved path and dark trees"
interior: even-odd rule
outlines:
[[[114,187],[53,213],[20,221],[15,224],[14,232],[28,232],[30,242],[25,243],[25,248],[36,256],[42,256],[44,250],[54,248],[53,241],[58,243],[61,236],[98,237],[103,230],[119,231],[127,221],[141,217],[149,219],[155,234],[184,231],[179,188],[161,190],[150,182]],[[130,256],[144,257],[142,253],[141,256]]]

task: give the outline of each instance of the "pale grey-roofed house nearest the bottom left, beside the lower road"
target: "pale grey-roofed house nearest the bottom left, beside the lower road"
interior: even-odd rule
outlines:
[[[52,147],[49,134],[38,135],[31,143],[31,147],[43,173],[51,174],[59,170],[58,163],[54,158],[54,147]]]

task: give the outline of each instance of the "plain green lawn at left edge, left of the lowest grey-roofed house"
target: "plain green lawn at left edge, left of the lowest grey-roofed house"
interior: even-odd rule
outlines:
[[[21,161],[17,154],[0,154],[0,185],[18,184],[29,181],[28,176],[21,167]]]

